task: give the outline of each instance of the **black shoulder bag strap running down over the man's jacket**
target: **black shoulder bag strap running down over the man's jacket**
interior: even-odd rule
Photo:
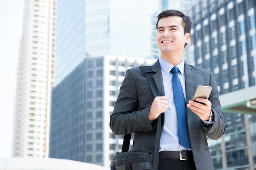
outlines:
[[[139,66],[141,72],[146,76],[148,80],[148,84],[150,89],[152,90],[154,96],[160,96],[155,81],[153,79],[153,72],[151,71],[150,66]],[[162,114],[157,118],[157,133],[155,140],[155,150],[154,150],[154,158],[153,158],[153,169],[158,169],[158,161],[159,161],[159,144],[160,144],[160,136],[161,136],[161,123],[162,123]],[[130,146],[130,138],[132,134],[124,135],[124,142],[122,146],[122,152],[127,152]]]

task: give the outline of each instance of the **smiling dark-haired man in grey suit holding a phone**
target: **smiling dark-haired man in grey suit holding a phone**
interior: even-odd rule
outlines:
[[[206,135],[219,139],[225,131],[215,79],[211,72],[184,61],[192,24],[189,17],[177,10],[166,10],[157,18],[156,41],[161,56],[150,67],[161,96],[154,97],[139,68],[128,69],[110,117],[110,128],[116,135],[134,133],[133,148],[153,152],[155,140],[160,140],[158,170],[214,170]],[[180,108],[175,105],[174,66],[180,70],[177,74],[183,94],[179,96],[184,96],[186,101],[188,146],[179,142],[177,117],[181,113],[177,113]],[[191,100],[198,85],[212,87],[209,99]],[[155,139],[157,118],[161,113],[164,114],[161,138]],[[179,157],[180,150],[186,155],[185,160]]]

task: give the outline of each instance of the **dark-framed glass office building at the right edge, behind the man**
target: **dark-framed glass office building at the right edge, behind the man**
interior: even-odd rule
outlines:
[[[225,135],[216,141],[209,140],[214,167],[216,170],[254,170],[256,1],[204,0],[189,11],[193,21],[192,64],[213,72],[220,98],[223,96],[230,103],[222,107]],[[248,96],[246,94],[250,94],[249,100],[236,102]],[[225,103],[227,101],[222,102]]]

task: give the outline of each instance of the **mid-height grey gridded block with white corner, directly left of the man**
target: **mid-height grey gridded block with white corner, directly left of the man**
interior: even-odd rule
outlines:
[[[115,55],[84,59],[52,90],[49,157],[109,167],[123,144],[109,120],[125,72],[155,61]]]

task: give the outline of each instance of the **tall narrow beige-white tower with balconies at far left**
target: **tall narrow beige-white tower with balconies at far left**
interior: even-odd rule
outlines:
[[[25,0],[13,128],[14,157],[48,157],[56,0]]]

